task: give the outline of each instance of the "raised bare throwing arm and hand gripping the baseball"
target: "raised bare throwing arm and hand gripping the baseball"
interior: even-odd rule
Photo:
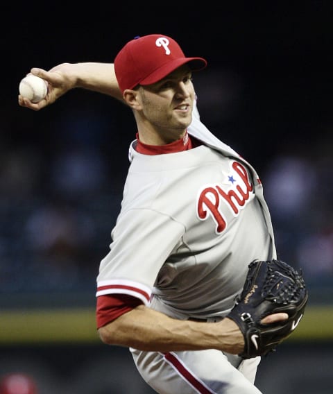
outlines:
[[[123,100],[114,73],[113,63],[62,63],[49,71],[33,68],[31,74],[43,78],[49,85],[45,99],[39,103],[31,103],[30,100],[19,95],[19,105],[31,110],[41,110],[76,87],[108,94],[114,99]]]

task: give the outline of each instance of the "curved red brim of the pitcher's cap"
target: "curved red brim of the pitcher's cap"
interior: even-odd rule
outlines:
[[[166,77],[168,74],[170,74],[172,71],[175,71],[178,69],[178,67],[182,65],[189,64],[189,68],[192,71],[200,71],[204,69],[207,66],[207,60],[204,58],[179,58],[175,59],[171,62],[167,62],[165,65],[162,65],[153,73],[150,75],[146,76],[143,80],[140,81],[139,85],[151,85],[153,83],[158,82],[159,80],[163,79]]]

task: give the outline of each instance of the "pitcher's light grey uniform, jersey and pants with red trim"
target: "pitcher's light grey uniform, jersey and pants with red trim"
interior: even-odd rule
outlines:
[[[252,166],[214,137],[196,110],[188,132],[203,144],[163,155],[137,153],[131,144],[96,295],[133,295],[175,318],[214,320],[234,305],[248,264],[276,257],[273,230]],[[158,393],[259,393],[249,382],[259,359],[216,350],[131,351]]]

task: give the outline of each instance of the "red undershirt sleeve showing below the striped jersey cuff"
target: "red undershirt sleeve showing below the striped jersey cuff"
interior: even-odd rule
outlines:
[[[127,294],[107,294],[97,297],[96,323],[97,328],[103,327],[119,316],[143,304],[139,298]]]

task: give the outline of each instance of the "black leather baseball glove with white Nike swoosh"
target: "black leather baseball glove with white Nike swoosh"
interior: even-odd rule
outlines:
[[[254,261],[248,266],[244,289],[228,318],[244,335],[244,359],[263,356],[296,329],[307,305],[308,291],[302,273],[280,260]],[[262,318],[285,312],[289,318],[262,324]]]

